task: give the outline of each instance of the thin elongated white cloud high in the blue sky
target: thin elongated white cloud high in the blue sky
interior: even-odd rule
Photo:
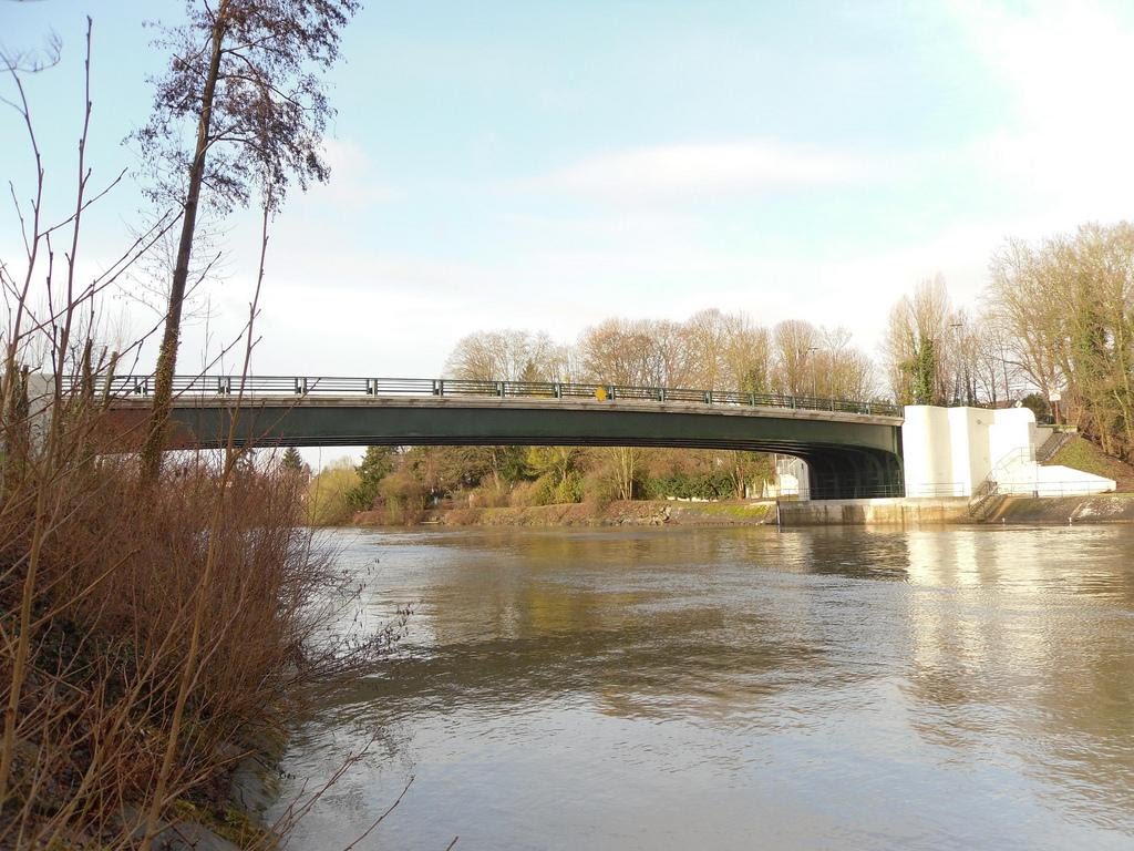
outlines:
[[[772,141],[674,144],[599,154],[528,182],[539,191],[653,200],[703,193],[760,193],[862,183],[869,159]]]

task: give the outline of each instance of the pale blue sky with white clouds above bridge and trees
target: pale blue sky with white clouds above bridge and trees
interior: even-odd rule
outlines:
[[[163,62],[143,24],[183,6],[0,0],[7,50],[64,42],[28,81],[60,211],[87,15],[98,184],[138,166],[122,140]],[[255,371],[428,377],[475,330],[574,340],[702,307],[844,326],[875,354],[917,281],[974,302],[1007,237],[1134,214],[1132,45],[1134,3],[1091,0],[366,2],[328,77],[331,182],[272,226]],[[26,197],[12,115],[0,176]],[[128,174],[92,212],[86,275],[142,207]],[[243,323],[257,225],[226,222],[183,363]],[[10,204],[0,256],[20,260]],[[124,332],[153,321],[116,305]]]

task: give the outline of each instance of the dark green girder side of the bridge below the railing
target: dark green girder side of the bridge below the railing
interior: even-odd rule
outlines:
[[[660,446],[747,449],[807,462],[812,499],[900,496],[900,420],[776,408],[440,399],[183,399],[178,447]],[[129,418],[130,410],[119,408]],[[144,412],[139,412],[144,413]],[[172,447],[171,447],[172,448]]]

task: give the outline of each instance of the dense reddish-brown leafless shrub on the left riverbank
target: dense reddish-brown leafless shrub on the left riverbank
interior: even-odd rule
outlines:
[[[5,458],[0,846],[130,844],[125,804],[200,800],[247,731],[384,640],[323,643],[341,580],[302,525],[301,479],[197,454],[150,483],[90,452],[87,426],[79,411]]]

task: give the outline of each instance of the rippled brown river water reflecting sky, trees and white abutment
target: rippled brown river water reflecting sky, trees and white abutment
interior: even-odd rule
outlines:
[[[293,849],[1134,848],[1134,530],[336,532]],[[373,568],[374,559],[380,564]]]

